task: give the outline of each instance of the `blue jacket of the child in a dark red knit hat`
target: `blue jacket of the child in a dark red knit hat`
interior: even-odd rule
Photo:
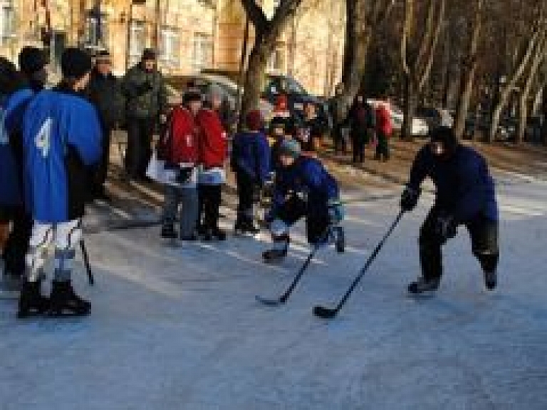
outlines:
[[[264,133],[237,133],[232,141],[231,164],[236,172],[244,172],[264,184],[271,171],[270,145]]]

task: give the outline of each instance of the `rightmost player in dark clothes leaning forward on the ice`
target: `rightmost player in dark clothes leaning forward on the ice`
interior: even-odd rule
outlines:
[[[469,231],[486,288],[492,290],[497,282],[499,215],[486,160],[459,144],[451,128],[438,128],[429,135],[431,141],[417,154],[401,198],[402,210],[410,211],[417,205],[425,178],[431,178],[437,188],[434,206],[420,230],[422,277],[408,290],[413,294],[437,290],[442,276],[442,246],[457,235],[460,225]]]

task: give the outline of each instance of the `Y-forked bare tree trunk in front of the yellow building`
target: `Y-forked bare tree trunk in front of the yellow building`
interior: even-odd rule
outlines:
[[[271,19],[259,6],[259,0],[241,0],[245,12],[254,26],[254,44],[249,55],[245,91],[241,101],[241,113],[256,108],[264,86],[264,73],[281,33],[291,21],[302,0],[280,0]]]

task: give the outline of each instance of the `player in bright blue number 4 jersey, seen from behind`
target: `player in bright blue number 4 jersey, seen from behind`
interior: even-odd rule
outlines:
[[[89,314],[90,303],[71,285],[75,247],[81,240],[86,167],[98,163],[101,132],[95,108],[83,98],[93,68],[78,48],[61,56],[63,79],[29,103],[24,118],[26,202],[33,217],[27,277],[19,297],[19,317]],[[51,296],[41,294],[43,267],[50,243],[55,245]]]

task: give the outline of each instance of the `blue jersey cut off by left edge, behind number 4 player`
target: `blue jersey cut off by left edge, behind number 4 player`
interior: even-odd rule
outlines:
[[[29,88],[0,96],[0,205],[23,203],[21,121],[32,96]]]

